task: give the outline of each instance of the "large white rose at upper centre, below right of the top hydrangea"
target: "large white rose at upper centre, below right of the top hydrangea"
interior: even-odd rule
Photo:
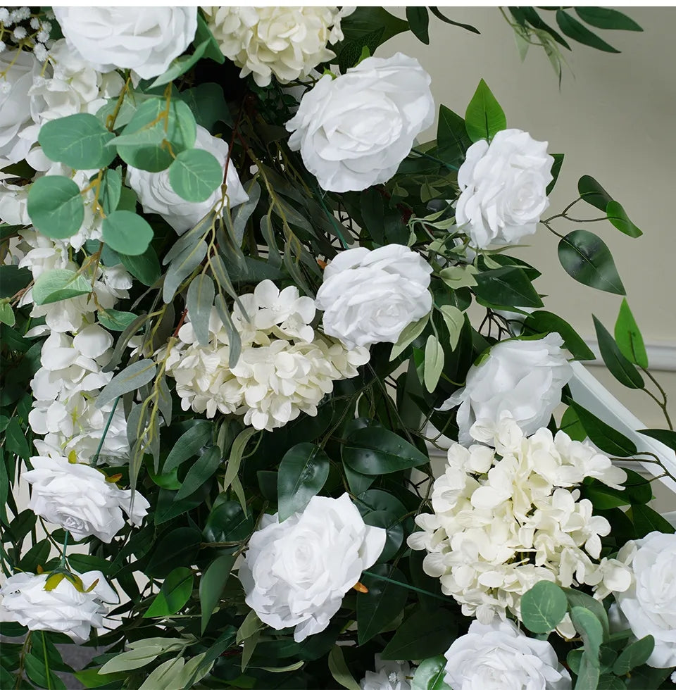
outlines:
[[[414,58],[366,58],[322,77],[287,122],[289,148],[330,192],[387,182],[434,121],[430,75]]]

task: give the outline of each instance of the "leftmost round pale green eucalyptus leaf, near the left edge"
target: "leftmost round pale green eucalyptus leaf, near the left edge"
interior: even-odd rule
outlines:
[[[52,239],[70,237],[84,221],[80,187],[62,175],[39,177],[28,190],[27,211],[42,234]]]

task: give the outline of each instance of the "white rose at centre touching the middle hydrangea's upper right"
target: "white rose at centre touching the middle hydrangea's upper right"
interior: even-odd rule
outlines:
[[[315,304],[324,332],[346,346],[396,343],[409,323],[432,309],[432,267],[401,244],[340,252],[324,270]]]

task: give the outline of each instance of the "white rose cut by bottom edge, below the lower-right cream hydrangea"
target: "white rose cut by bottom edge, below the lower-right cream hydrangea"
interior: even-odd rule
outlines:
[[[570,675],[545,640],[527,637],[511,620],[472,622],[446,652],[444,680],[453,690],[569,690]]]

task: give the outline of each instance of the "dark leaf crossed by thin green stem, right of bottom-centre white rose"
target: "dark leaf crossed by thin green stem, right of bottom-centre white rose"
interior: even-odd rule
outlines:
[[[368,588],[365,594],[357,593],[357,634],[359,644],[377,635],[403,609],[408,591],[403,572],[392,565],[374,565],[371,570],[387,577],[389,582],[372,577],[368,572],[361,576],[361,583]]]

